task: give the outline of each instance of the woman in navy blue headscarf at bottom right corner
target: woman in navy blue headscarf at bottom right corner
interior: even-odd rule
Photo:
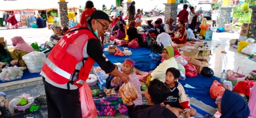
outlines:
[[[248,118],[250,109],[244,98],[230,90],[225,90],[224,94],[219,96],[215,102],[218,105],[220,118]]]

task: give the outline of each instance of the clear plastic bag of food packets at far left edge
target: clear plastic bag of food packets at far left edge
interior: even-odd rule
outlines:
[[[12,81],[15,79],[19,79],[23,76],[23,71],[19,69],[16,65],[13,67],[5,67],[2,72],[0,73],[0,80],[5,81]]]

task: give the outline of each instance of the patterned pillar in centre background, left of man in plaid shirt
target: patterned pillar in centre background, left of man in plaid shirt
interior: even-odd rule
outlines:
[[[176,21],[179,3],[176,3],[176,0],[175,0],[175,3],[164,3],[164,5],[165,5],[164,21],[166,21],[170,17],[172,17]]]

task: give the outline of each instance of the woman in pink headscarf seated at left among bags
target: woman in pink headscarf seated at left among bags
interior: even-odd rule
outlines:
[[[12,45],[14,46],[14,54],[12,55],[11,65],[26,66],[22,56],[35,51],[22,37],[15,36],[12,38]]]

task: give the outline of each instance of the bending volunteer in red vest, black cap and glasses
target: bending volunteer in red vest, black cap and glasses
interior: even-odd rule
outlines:
[[[81,19],[85,20],[85,19]],[[54,46],[40,73],[45,85],[48,118],[82,118],[79,88],[86,83],[93,63],[125,83],[130,78],[106,58],[98,37],[109,26],[108,15],[95,11],[86,24],[69,29]]]

